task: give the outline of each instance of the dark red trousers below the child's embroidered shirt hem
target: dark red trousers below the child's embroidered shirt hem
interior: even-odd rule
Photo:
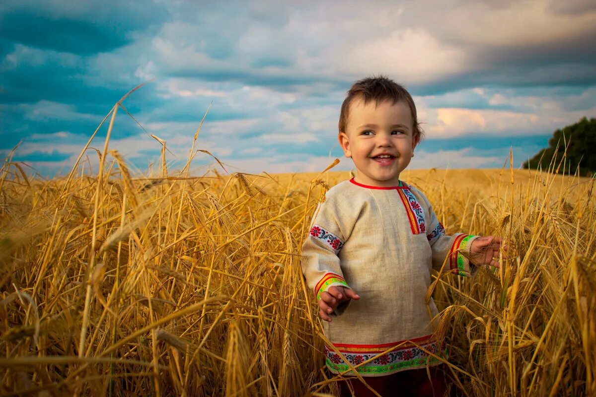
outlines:
[[[363,379],[382,397],[443,397],[447,392],[447,378],[443,367],[445,367],[443,364],[430,367],[430,379],[426,368],[406,370],[386,376],[368,376]],[[352,386],[353,395],[356,397],[375,396],[364,383],[355,377],[339,382],[341,397],[352,396],[348,383]]]

